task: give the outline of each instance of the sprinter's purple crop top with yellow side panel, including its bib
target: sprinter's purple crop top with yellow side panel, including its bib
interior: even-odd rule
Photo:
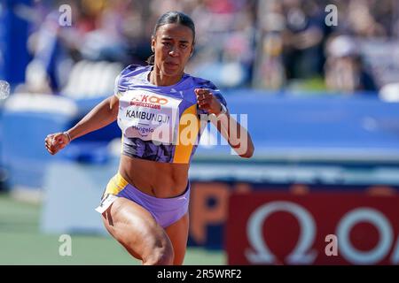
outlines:
[[[224,105],[219,89],[189,74],[173,86],[155,86],[147,78],[153,66],[129,65],[115,80],[122,154],[164,163],[190,163],[204,129],[195,88],[208,88]],[[205,124],[206,125],[206,124]]]

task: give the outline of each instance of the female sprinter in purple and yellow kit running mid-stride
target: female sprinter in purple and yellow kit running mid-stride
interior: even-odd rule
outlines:
[[[96,210],[107,231],[143,264],[184,262],[188,171],[204,114],[240,157],[254,152],[249,134],[230,118],[215,85],[184,73],[194,40],[192,19],[182,12],[163,14],[153,31],[149,65],[129,65],[116,79],[114,96],[68,131],[45,139],[53,155],[77,137],[118,120],[121,163]]]

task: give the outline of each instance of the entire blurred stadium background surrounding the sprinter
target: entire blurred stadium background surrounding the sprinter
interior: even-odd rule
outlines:
[[[240,160],[206,134],[184,264],[398,264],[395,0],[1,0],[0,264],[139,264],[94,210],[117,170],[118,127],[56,157],[43,140],[111,96],[124,66],[145,64],[170,10],[196,23],[186,72],[247,114],[255,144]],[[62,234],[72,256],[59,255]],[[328,234],[338,256],[325,254]]]

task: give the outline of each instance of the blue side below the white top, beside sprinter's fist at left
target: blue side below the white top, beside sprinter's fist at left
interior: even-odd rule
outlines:
[[[66,129],[68,124],[66,116],[4,112],[2,157],[10,172],[11,187],[42,187],[46,164],[51,161],[51,155],[44,148],[44,138],[51,132]]]

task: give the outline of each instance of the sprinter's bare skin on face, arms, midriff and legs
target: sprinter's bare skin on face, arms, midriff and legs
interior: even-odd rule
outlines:
[[[151,46],[155,59],[148,80],[156,86],[170,86],[179,82],[194,50],[190,27],[181,24],[160,26],[152,38]],[[209,89],[196,88],[194,92],[201,110],[216,115],[220,113],[221,103]],[[118,98],[108,97],[68,130],[69,135],[49,134],[45,139],[46,149],[54,155],[75,138],[111,124],[117,119],[118,109]],[[240,156],[251,157],[253,151],[254,146],[249,137],[247,153]],[[119,172],[145,194],[168,198],[184,193],[189,166],[121,155]],[[148,210],[126,198],[118,197],[103,213],[102,220],[107,231],[131,256],[142,260],[143,264],[183,264],[189,231],[188,213],[164,229]]]

